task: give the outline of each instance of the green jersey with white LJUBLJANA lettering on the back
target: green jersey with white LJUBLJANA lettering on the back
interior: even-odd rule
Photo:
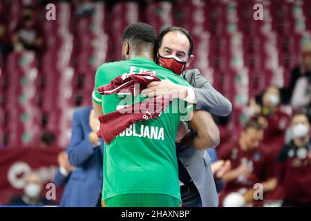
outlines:
[[[143,73],[147,70],[153,71],[161,80],[169,79],[173,83],[190,86],[171,70],[158,66],[150,59],[135,57],[106,63],[98,68],[93,101],[102,104],[105,114],[117,111],[124,97],[100,95],[96,89],[124,73]],[[132,104],[146,99],[141,95],[132,98]],[[175,138],[182,111],[179,107],[178,111],[172,111],[175,107],[176,102],[171,102],[160,117],[131,124],[110,144],[104,144],[102,200],[127,193],[166,194],[180,200]],[[193,106],[189,105],[186,109],[189,112]]]

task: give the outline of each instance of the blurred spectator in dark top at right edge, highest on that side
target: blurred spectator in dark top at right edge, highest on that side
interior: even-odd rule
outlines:
[[[290,84],[283,93],[283,99],[285,103],[290,103],[292,99],[292,93],[299,77],[311,77],[311,44],[303,44],[301,47],[301,57],[299,65],[296,66],[291,73]]]

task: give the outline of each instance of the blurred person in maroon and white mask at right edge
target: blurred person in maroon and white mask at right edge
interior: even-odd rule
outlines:
[[[311,206],[310,122],[303,113],[292,116],[292,140],[277,159],[278,184],[283,186],[283,206]]]

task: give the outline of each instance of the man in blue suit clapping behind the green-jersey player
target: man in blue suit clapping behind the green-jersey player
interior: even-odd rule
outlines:
[[[99,125],[91,106],[73,114],[67,153],[75,169],[70,173],[60,206],[101,206],[103,143],[96,135]],[[66,182],[62,175],[57,175],[57,181]]]

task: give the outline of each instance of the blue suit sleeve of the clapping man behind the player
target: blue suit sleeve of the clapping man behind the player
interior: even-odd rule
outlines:
[[[68,147],[69,162],[73,166],[82,166],[94,152],[88,135],[83,132],[81,117],[78,114],[78,111],[73,114],[73,129]]]

